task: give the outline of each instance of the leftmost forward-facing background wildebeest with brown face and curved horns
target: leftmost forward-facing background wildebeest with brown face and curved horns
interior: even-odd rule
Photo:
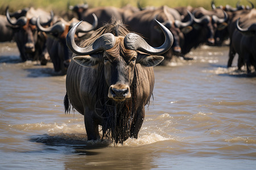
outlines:
[[[25,16],[18,19],[12,19],[9,14],[9,7],[6,8],[6,18],[8,22],[15,28],[14,40],[18,46],[22,61],[39,59],[42,65],[46,65],[49,55],[46,50],[46,35],[38,32],[36,28],[36,19],[40,17],[42,25],[48,26],[53,19],[51,15],[42,10],[30,8]]]

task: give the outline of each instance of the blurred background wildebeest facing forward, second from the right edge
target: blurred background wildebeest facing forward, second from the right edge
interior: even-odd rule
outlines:
[[[191,11],[195,16],[193,18],[192,31],[184,33],[184,44],[181,46],[181,55],[185,55],[193,48],[197,48],[202,44],[214,45],[214,35],[218,28],[225,28],[228,15],[225,11],[208,11],[203,7],[179,7],[175,8],[184,16],[184,20],[188,18],[186,11]],[[222,14],[222,17],[220,16]]]

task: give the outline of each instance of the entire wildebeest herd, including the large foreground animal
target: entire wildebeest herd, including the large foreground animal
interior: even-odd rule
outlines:
[[[70,7],[77,18],[40,8],[1,16],[1,41],[14,40],[23,61],[51,61],[67,74],[65,112],[84,115],[88,140],[137,138],[154,88],[152,66],[167,65],[202,44],[230,39],[228,67],[256,68],[256,10],[253,3],[212,10],[203,7]],[[80,22],[82,20],[82,22]],[[72,58],[73,57],[73,58]],[[71,59],[72,58],[72,59]]]

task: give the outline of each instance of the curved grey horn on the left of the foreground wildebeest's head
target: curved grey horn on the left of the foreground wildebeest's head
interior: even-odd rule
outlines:
[[[67,46],[73,53],[78,55],[87,55],[113,48],[115,45],[115,36],[112,33],[105,33],[104,35],[98,37],[98,39],[96,39],[92,45],[86,46],[85,48],[77,46],[74,40],[74,36],[76,29],[81,24],[81,22],[77,23],[73,28],[71,28],[66,37]]]

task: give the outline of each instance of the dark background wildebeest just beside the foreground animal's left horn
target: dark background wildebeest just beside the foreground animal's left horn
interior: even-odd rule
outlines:
[[[86,35],[78,36],[79,33],[90,32],[97,27],[97,17],[95,15],[93,15],[93,17],[93,25],[87,22],[82,22],[79,29],[77,29],[75,37],[77,43],[86,38]],[[66,36],[68,34],[68,31],[73,27],[73,25],[78,22],[79,20],[77,20],[76,18],[73,18],[69,22],[65,22],[65,20],[59,19],[59,21],[57,21],[55,24],[48,28],[44,28],[42,27],[42,25],[40,25],[39,18],[36,22],[39,31],[47,33],[46,46],[49,56],[53,63],[54,70],[56,72],[61,71],[61,74],[67,73],[69,62],[71,61],[73,54],[67,47]]]

